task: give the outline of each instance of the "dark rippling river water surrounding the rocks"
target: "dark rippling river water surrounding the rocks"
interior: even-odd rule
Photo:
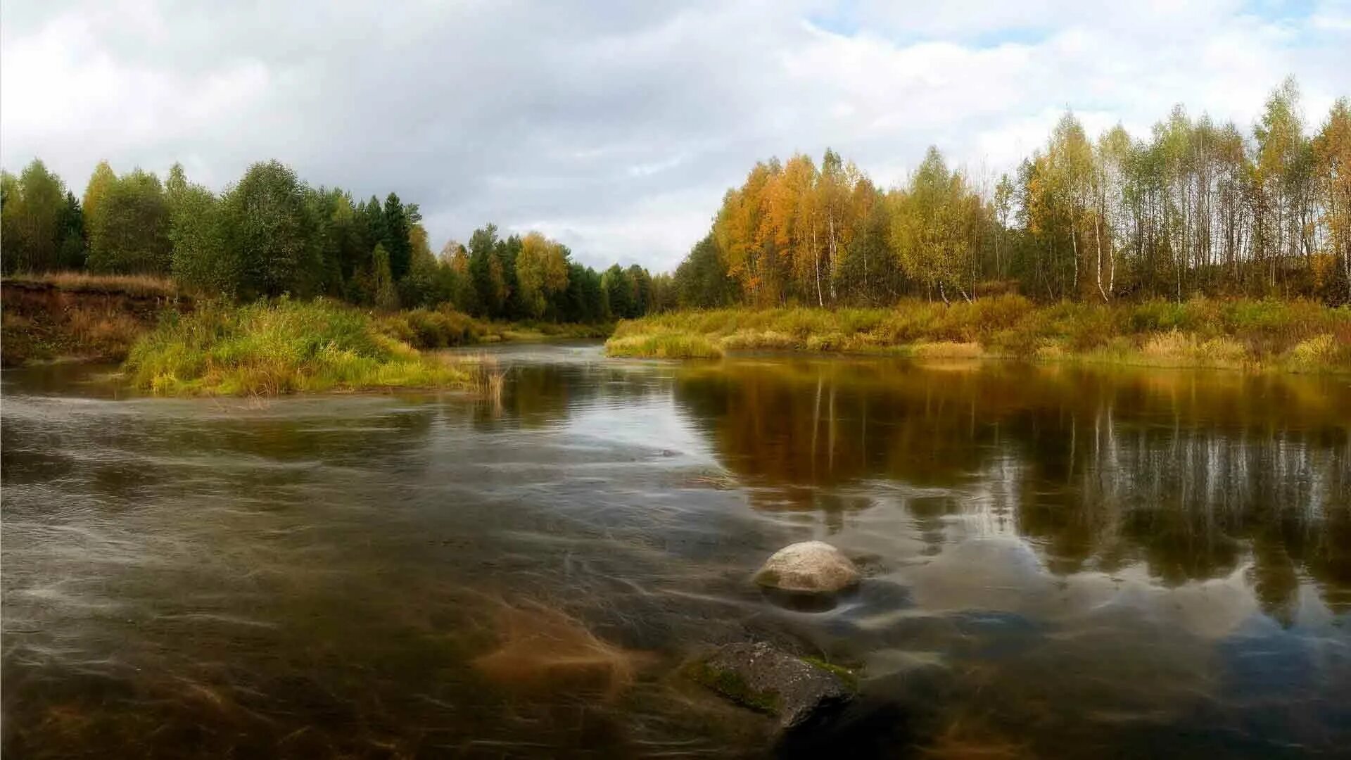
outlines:
[[[500,358],[496,404],[5,372],[4,756],[759,755],[677,672],[742,640],[862,667],[850,756],[1351,748],[1346,377]],[[867,571],[830,611],[748,583],[808,538]]]

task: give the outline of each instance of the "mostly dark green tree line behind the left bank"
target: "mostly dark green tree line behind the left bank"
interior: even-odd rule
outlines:
[[[431,250],[417,204],[355,200],[311,187],[277,162],[250,166],[222,193],[107,161],[82,197],[41,160],[0,173],[4,273],[54,269],[170,275],[235,299],[328,296],[384,310],[455,308],[492,319],[607,322],[673,303],[670,277],[638,265],[596,272],[539,233],[474,230]]]

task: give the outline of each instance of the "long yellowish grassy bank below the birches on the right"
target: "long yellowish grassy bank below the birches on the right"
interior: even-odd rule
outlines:
[[[611,356],[716,357],[730,350],[890,352],[1156,366],[1351,371],[1351,310],[1304,300],[1132,304],[1019,296],[892,308],[686,311],[621,322]]]

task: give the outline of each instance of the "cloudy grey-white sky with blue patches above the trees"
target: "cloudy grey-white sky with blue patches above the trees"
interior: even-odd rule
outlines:
[[[436,250],[494,222],[659,272],[758,160],[994,176],[1066,110],[1248,131],[1288,74],[1310,130],[1351,95],[1351,0],[5,0],[0,165],[80,195],[104,158],[218,191],[277,158],[417,203]]]

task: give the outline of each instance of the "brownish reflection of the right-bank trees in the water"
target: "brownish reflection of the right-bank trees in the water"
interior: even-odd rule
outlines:
[[[1144,561],[1175,584],[1252,563],[1283,621],[1302,576],[1351,598],[1351,394],[1331,381],[732,361],[685,368],[676,398],[759,507],[839,510],[828,495],[869,479],[979,491],[1052,572]],[[962,507],[909,508],[936,549]]]

